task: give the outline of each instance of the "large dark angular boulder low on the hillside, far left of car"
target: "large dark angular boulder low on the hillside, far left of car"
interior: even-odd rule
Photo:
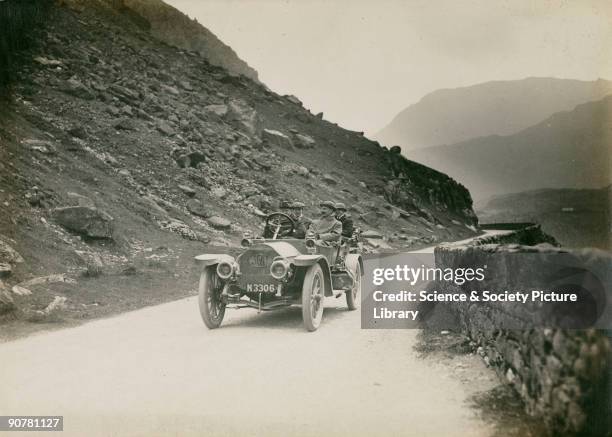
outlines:
[[[87,206],[56,208],[54,220],[64,228],[88,238],[112,238],[113,218],[106,212]]]

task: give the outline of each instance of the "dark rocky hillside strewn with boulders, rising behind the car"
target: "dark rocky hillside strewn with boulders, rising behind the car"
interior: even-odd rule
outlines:
[[[123,2],[44,22],[0,105],[3,310],[73,320],[189,294],[193,256],[233,250],[283,199],[343,201],[383,245],[475,232],[446,175],[161,43]]]

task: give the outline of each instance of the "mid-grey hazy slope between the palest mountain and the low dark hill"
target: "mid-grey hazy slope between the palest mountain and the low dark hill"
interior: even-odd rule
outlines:
[[[474,200],[539,188],[601,188],[612,182],[612,96],[559,112],[509,136],[411,150]]]

